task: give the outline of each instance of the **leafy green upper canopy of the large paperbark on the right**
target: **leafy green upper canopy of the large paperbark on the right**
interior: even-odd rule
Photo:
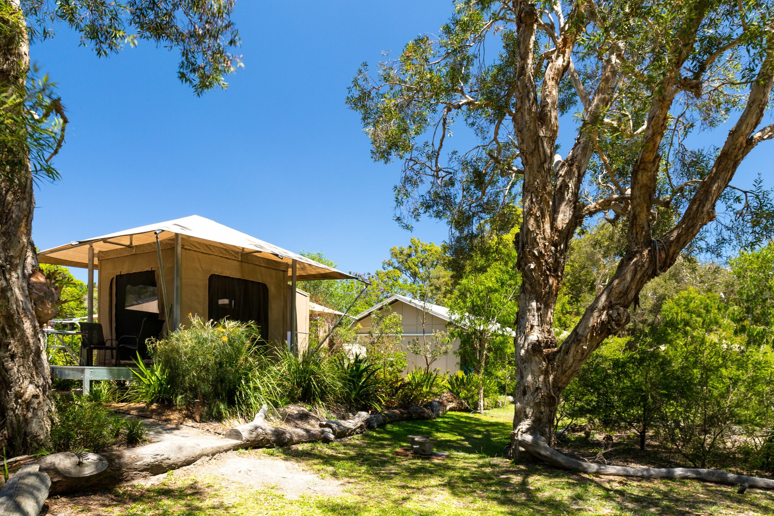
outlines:
[[[450,244],[457,247],[457,239],[488,231],[482,221],[511,220],[507,207],[518,203],[522,174],[550,166],[550,151],[558,150],[548,122],[543,145],[550,150],[536,152],[529,143],[522,149],[532,137],[526,127],[536,123],[529,118],[534,110],[522,109],[528,102],[541,106],[542,121],[573,112],[582,121],[571,125],[578,145],[587,145],[581,137],[593,136],[596,152],[580,163],[587,170],[580,176],[584,205],[624,196],[646,141],[643,124],[654,95],[664,95],[672,111],[656,130],[661,159],[655,186],[656,198],[666,203],[657,203],[663,206],[653,224],[656,236],[664,234],[680,220],[717,155],[715,149],[692,149],[689,135],[718,128],[740,111],[748,84],[761,70],[769,4],[675,0],[641,2],[636,9],[625,2],[595,2],[591,10],[584,4],[538,7],[537,29],[527,35],[530,24],[518,21],[521,4],[455,2],[450,19],[432,30],[435,36],[423,32],[374,70],[367,63],[358,69],[347,104],[361,115],[373,159],[402,162],[395,188],[399,222],[410,227],[423,214],[446,220]],[[524,38],[534,39],[533,56],[525,55]],[[557,63],[562,51],[557,39],[570,44],[577,73],[546,74],[546,64]],[[612,61],[621,64],[611,69]],[[670,95],[674,67],[690,70],[683,77],[690,84],[680,83]],[[594,96],[603,73],[615,74],[609,100]],[[604,123],[590,115],[591,98],[601,101]],[[565,135],[566,141],[573,136]],[[553,169],[557,175],[543,192],[548,198],[567,184],[557,180],[562,171],[556,164]],[[605,218],[615,223],[627,217],[626,202],[609,206]],[[700,235],[694,250],[719,254],[732,241],[752,248],[774,231],[774,203],[761,183],[744,193],[726,190],[721,206],[714,231]]]

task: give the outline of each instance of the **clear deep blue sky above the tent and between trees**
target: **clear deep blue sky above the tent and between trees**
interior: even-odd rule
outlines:
[[[62,180],[36,189],[36,245],[198,214],[291,251],[324,251],[345,271],[379,268],[411,236],[392,219],[400,166],[372,162],[344,97],[362,61],[437,31],[451,9],[445,0],[240,0],[245,68],[204,97],[177,80],[176,50],[140,42],[99,59],[60,28],[31,49],[70,118]],[[720,144],[727,131],[694,141]],[[573,139],[563,132],[562,154]],[[771,144],[748,157],[736,184],[768,173]],[[414,234],[440,243],[447,228],[425,221]]]

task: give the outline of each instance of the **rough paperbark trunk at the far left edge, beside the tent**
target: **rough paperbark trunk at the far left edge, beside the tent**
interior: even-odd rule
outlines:
[[[10,4],[13,9],[0,12],[0,91],[19,95],[29,71],[29,39],[19,0]],[[28,291],[38,264],[33,176],[23,148],[17,156],[3,149],[8,160],[0,163],[0,445],[15,455],[46,443],[53,414],[48,360]]]

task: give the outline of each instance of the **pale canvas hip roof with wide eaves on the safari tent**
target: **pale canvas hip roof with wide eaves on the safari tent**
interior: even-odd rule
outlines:
[[[175,234],[180,234],[183,238],[204,241],[207,244],[216,244],[232,251],[257,255],[273,261],[282,261],[288,265],[293,260],[296,260],[296,277],[298,279],[355,279],[354,276],[345,272],[337,271],[335,268],[330,268],[310,258],[296,255],[292,251],[279,248],[276,245],[269,244],[198,215],[133,227],[132,229],[116,233],[104,234],[101,237],[73,241],[70,244],[60,245],[57,248],[40,251],[38,253],[38,261],[41,263],[86,268],[88,267],[88,247],[91,244],[94,247],[95,253],[94,268],[99,268],[99,260],[96,255],[99,251],[154,243],[156,241],[155,232],[158,230],[162,231],[159,233],[159,240],[174,238]],[[290,275],[290,271],[288,271],[288,275]]]

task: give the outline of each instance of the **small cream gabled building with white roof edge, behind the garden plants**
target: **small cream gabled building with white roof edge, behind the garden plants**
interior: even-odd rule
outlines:
[[[445,306],[434,305],[433,303],[423,303],[406,296],[398,294],[390,296],[388,299],[372,306],[356,316],[355,323],[359,323],[361,328],[358,335],[365,337],[372,326],[372,315],[379,309],[389,306],[392,312],[399,313],[403,322],[403,340],[401,345],[406,351],[407,367],[406,372],[414,366],[425,367],[425,359],[416,354],[409,353],[407,345],[414,338],[422,338],[423,335],[430,337],[434,331],[448,331],[448,325],[451,323],[449,309]],[[423,313],[424,327],[423,327]],[[433,363],[432,368],[438,368],[441,371],[450,371],[455,373],[460,370],[459,358],[454,354],[460,349],[460,340],[454,339],[451,343],[451,349],[438,361]]]

